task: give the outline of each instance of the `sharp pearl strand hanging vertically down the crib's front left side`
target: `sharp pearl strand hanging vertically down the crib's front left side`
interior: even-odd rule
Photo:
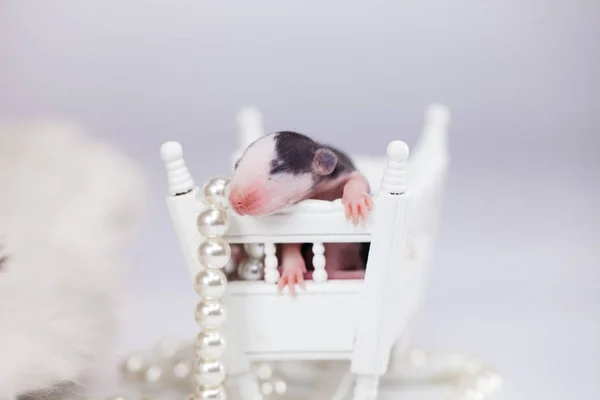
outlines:
[[[225,350],[225,338],[220,328],[225,322],[226,310],[222,297],[227,277],[222,269],[231,259],[231,247],[223,239],[229,229],[227,216],[227,180],[213,178],[203,187],[206,204],[197,218],[197,226],[205,240],[198,247],[198,259],[204,267],[195,278],[194,288],[201,300],[196,307],[196,322],[201,328],[195,341],[196,362],[194,376],[197,382],[193,400],[226,400],[223,385],[225,367],[220,358]]]

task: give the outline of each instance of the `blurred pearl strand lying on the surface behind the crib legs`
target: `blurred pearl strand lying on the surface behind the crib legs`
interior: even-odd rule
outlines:
[[[133,355],[124,362],[122,373],[127,376],[129,384],[137,386],[140,395],[135,397],[114,396],[107,400],[158,400],[161,393],[171,392],[183,396],[194,390],[195,382],[190,379],[191,368],[195,359],[193,343],[182,343],[175,350],[170,344],[156,346],[154,356],[142,362],[139,355]],[[170,349],[170,350],[168,350]],[[167,354],[171,356],[167,357]],[[255,362],[252,366],[259,381],[265,400],[284,398],[307,398],[312,393],[310,386],[323,374],[332,373],[335,368],[347,368],[340,362]],[[156,371],[163,371],[156,378]],[[333,374],[332,374],[333,375]],[[463,353],[445,351],[427,351],[420,348],[409,348],[401,354],[393,356],[390,371],[382,377],[381,389],[390,385],[401,387],[412,382],[422,385],[449,385],[450,393],[443,400],[488,400],[493,398],[502,387],[502,377],[482,360]],[[154,391],[149,392],[149,388]],[[349,386],[348,390],[352,387]],[[193,397],[192,397],[193,398]],[[210,397],[209,397],[210,398]],[[218,398],[218,397],[217,397]]]

